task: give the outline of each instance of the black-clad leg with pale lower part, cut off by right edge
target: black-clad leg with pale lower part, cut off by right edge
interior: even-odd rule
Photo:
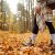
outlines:
[[[51,45],[55,44],[55,30],[54,30],[54,26],[53,26],[52,22],[46,22],[46,25],[48,26],[50,34],[51,34]],[[53,43],[52,43],[52,41],[53,41]]]

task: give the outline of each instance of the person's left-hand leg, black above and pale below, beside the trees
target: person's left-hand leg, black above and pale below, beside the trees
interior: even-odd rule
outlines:
[[[35,37],[38,33],[38,26],[36,24],[36,20],[34,19],[34,24],[33,24],[33,31],[32,31],[32,35],[31,35],[31,43],[34,44],[35,43]]]

